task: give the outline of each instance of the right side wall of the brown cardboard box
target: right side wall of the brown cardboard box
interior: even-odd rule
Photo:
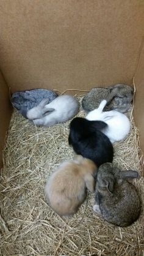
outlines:
[[[144,153],[144,45],[140,55],[137,73],[135,74],[134,119],[140,131],[140,148]]]

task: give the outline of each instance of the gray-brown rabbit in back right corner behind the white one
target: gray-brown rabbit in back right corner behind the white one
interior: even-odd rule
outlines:
[[[82,100],[82,107],[85,111],[92,111],[98,108],[103,99],[107,100],[104,111],[117,110],[121,113],[131,108],[134,89],[125,84],[117,84],[108,88],[93,88]]]

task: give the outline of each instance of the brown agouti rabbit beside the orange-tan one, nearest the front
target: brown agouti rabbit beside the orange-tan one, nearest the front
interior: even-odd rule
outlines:
[[[140,216],[141,201],[134,185],[127,179],[137,177],[137,171],[120,171],[110,163],[101,165],[96,178],[93,210],[114,225],[131,225]]]

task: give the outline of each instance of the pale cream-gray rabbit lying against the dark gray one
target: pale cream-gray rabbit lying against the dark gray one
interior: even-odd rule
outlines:
[[[76,115],[79,102],[70,95],[62,95],[52,100],[44,99],[37,107],[27,111],[27,118],[33,120],[37,126],[52,126],[65,122]]]

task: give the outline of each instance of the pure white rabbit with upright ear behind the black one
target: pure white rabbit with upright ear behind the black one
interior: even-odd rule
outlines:
[[[107,126],[101,131],[114,143],[115,141],[126,138],[131,129],[131,123],[127,116],[118,111],[111,110],[103,112],[106,104],[107,101],[102,100],[98,108],[88,113],[86,119],[106,122]]]

